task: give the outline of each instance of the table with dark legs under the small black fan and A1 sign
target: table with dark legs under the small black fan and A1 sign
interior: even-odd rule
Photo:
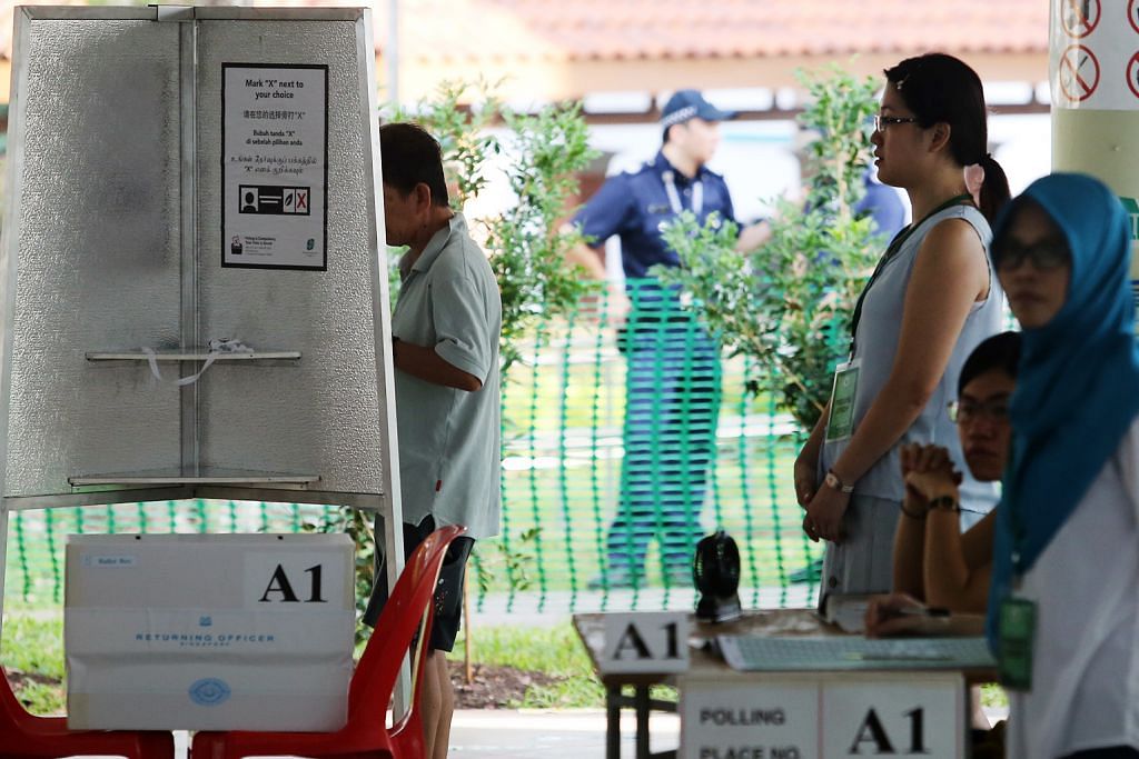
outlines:
[[[685,677],[706,676],[726,680],[747,679],[755,673],[736,671],[724,663],[719,654],[711,652],[707,645],[716,635],[762,635],[772,637],[818,637],[827,635],[846,635],[838,627],[825,622],[814,609],[771,609],[747,611],[731,622],[713,625],[697,620],[691,616],[689,634],[690,665]],[[632,709],[637,718],[636,757],[637,759],[672,759],[675,751],[652,753],[649,750],[649,713],[657,711],[675,711],[677,704],[649,698],[653,685],[677,685],[679,675],[663,673],[638,674],[600,674],[599,661],[605,650],[605,614],[579,613],[573,616],[574,628],[589,653],[593,671],[605,686],[606,706],[606,759],[621,757],[621,712]],[[995,673],[991,669],[966,670],[966,682],[969,684],[989,683]],[[625,695],[624,688],[632,687],[632,696]]]

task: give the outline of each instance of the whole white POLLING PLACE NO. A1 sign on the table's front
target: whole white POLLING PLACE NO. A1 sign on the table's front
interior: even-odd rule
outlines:
[[[681,759],[965,757],[956,673],[685,677],[680,694]]]

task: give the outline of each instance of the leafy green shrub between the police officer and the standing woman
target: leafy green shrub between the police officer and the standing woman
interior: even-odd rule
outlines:
[[[805,203],[776,200],[771,237],[752,253],[735,249],[734,225],[682,214],[664,233],[681,267],[654,274],[688,292],[724,347],[752,356],[780,406],[810,428],[849,350],[851,312],[882,240],[853,211],[866,192],[875,81],[837,66],[800,80],[810,92],[800,125],[817,135],[805,149]]]

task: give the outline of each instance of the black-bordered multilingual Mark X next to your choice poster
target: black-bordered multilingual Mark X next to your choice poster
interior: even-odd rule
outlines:
[[[222,266],[327,266],[328,66],[222,64]]]

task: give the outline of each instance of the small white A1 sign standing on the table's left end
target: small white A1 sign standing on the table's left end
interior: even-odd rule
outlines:
[[[688,614],[654,611],[605,614],[605,649],[598,669],[609,673],[688,670]]]

